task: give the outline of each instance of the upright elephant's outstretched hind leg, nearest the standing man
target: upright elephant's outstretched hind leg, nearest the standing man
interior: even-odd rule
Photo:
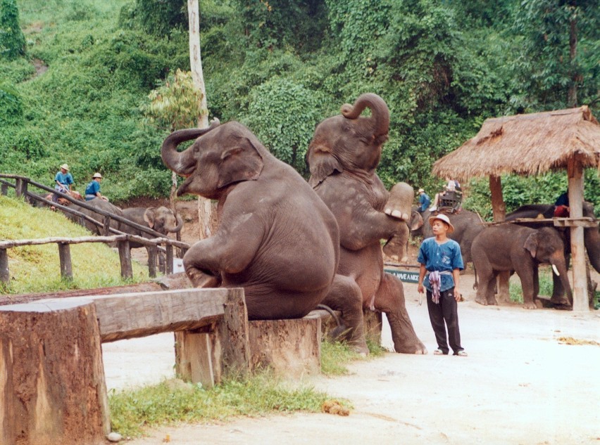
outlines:
[[[417,337],[406,311],[402,282],[389,273],[383,274],[381,284],[375,292],[375,309],[387,316],[396,352],[427,354],[427,348]]]

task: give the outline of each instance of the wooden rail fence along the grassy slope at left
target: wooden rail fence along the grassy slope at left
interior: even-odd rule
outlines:
[[[14,183],[6,181],[6,179],[13,179]],[[104,221],[96,221],[96,219],[89,217],[88,215],[83,214],[78,210],[71,209],[68,206],[60,205],[57,202],[52,202],[50,200],[46,200],[41,196],[35,195],[35,193],[31,193],[29,190],[30,185],[49,193],[56,193],[56,195],[61,196],[61,198],[65,198],[65,200],[68,200],[79,207],[83,207],[85,209],[96,212],[97,214],[100,214],[102,217],[104,217]],[[0,174],[0,193],[2,195],[6,195],[8,193],[8,188],[14,188],[15,195],[17,196],[17,198],[23,198],[26,202],[33,203],[37,201],[43,202],[46,205],[53,205],[54,207],[61,209],[65,213],[73,214],[75,215],[75,217],[78,217],[80,219],[80,224],[83,223],[83,220],[89,221],[92,224],[101,227],[104,236],[81,238],[44,238],[38,240],[13,240],[0,242],[0,281],[6,284],[10,283],[10,273],[8,271],[8,254],[6,252],[6,249],[11,247],[18,247],[21,245],[40,245],[48,243],[58,244],[58,256],[61,262],[61,276],[63,276],[64,278],[73,278],[73,268],[71,266],[70,260],[70,244],[117,243],[121,265],[121,276],[123,276],[123,278],[132,277],[131,254],[129,247],[130,241],[135,241],[147,247],[148,269],[149,276],[151,277],[156,276],[157,265],[160,263],[158,261],[159,252],[161,254],[164,254],[166,257],[165,267],[162,270],[163,273],[173,273],[173,247],[178,247],[180,249],[180,256],[182,256],[183,253],[185,253],[185,251],[189,249],[189,244],[187,243],[182,243],[181,241],[166,238],[162,233],[154,231],[149,227],[136,224],[135,222],[130,221],[129,219],[121,217],[117,214],[106,212],[102,209],[96,209],[95,207],[92,207],[91,205],[87,204],[85,201],[77,200],[71,197],[70,195],[66,195],[65,193],[55,191],[53,188],[32,181],[31,179],[25,176]],[[112,220],[118,221],[121,224],[125,224],[132,228],[135,228],[135,230],[140,231],[142,233],[146,233],[151,238],[144,238],[141,236],[130,235],[118,231],[117,229],[111,227]],[[110,236],[111,233],[113,233],[114,235]],[[161,245],[164,245],[165,247],[162,247]]]

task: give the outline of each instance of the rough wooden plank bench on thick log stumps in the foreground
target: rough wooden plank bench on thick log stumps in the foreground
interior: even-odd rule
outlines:
[[[218,339],[194,377],[249,372],[243,289],[42,299],[0,307],[0,444],[105,444],[111,431],[101,342],[163,332]],[[200,335],[200,334],[198,334]],[[205,338],[206,341],[206,338]],[[189,350],[192,346],[184,345]],[[219,370],[219,374],[214,370]]]

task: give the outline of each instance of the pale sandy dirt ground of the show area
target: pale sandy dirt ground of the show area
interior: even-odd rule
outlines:
[[[468,357],[432,354],[436,344],[427,309],[418,305],[416,285],[405,283],[406,307],[430,354],[390,352],[352,363],[347,376],[301,380],[351,401],[348,417],[234,418],[151,430],[127,443],[600,444],[599,311],[482,307],[474,301],[473,278],[461,277],[466,301],[458,306]],[[597,275],[593,279],[599,281]],[[561,337],[585,344],[564,344]],[[382,344],[392,347],[386,323]],[[102,347],[109,390],[173,377],[171,334]]]

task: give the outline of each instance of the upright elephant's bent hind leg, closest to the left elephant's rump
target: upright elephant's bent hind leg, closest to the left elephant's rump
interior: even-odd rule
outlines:
[[[330,292],[322,303],[342,311],[342,323],[346,327],[342,329],[346,332],[345,340],[359,354],[369,354],[363,322],[363,294],[356,281],[348,276],[337,274],[333,279]]]

